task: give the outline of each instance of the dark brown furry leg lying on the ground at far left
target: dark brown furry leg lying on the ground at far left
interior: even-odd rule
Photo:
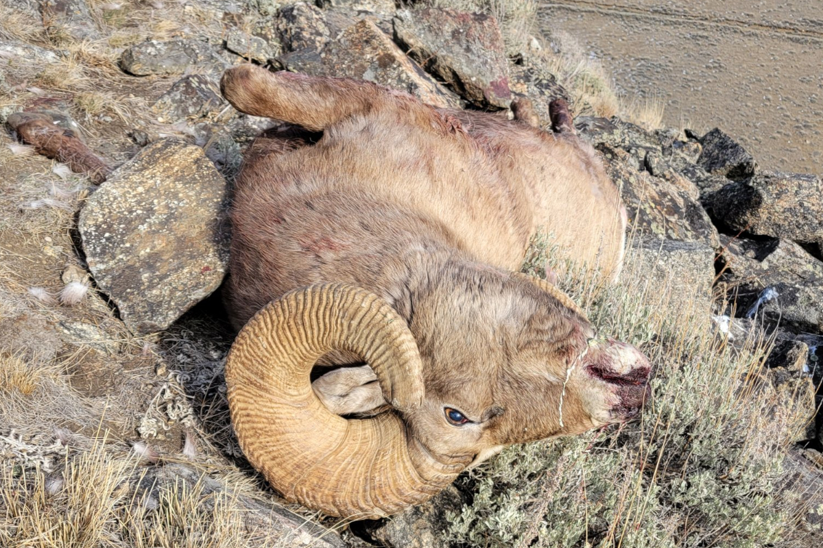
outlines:
[[[7,122],[24,142],[34,145],[38,154],[67,163],[74,173],[85,173],[96,183],[104,182],[111,173],[109,164],[91,152],[73,131],[55,126],[44,114],[13,113]]]

